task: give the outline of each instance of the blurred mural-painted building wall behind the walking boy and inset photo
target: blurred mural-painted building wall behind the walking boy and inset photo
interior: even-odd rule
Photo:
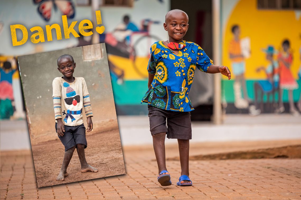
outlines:
[[[121,142],[152,144],[147,105],[150,46],[166,40],[165,14],[184,10],[184,37],[199,44],[216,65],[228,66],[232,79],[199,72],[191,88],[195,111],[191,142],[300,141],[301,0],[31,0],[1,1],[0,109],[1,151],[30,149],[17,57],[92,43],[106,43]],[[101,10],[103,34],[12,46],[10,25],[96,22]],[[63,29],[61,28],[63,31]],[[95,28],[93,29],[95,32]],[[17,38],[22,32],[17,30]],[[37,83],[38,84],[38,83]],[[55,134],[55,133],[54,133]],[[168,140],[167,143],[175,143]],[[285,143],[285,142],[284,142]],[[283,145],[284,145],[283,143]],[[279,143],[281,144],[281,142]],[[255,145],[256,146],[256,145]]]

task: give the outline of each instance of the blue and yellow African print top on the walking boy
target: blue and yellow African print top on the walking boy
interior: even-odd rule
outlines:
[[[178,55],[166,47],[163,41],[155,42],[151,46],[147,71],[155,74],[155,77],[141,103],[145,102],[164,110],[186,112],[194,110],[188,93],[195,68],[206,72],[213,61],[196,43],[186,41],[181,43],[186,46],[179,50]]]

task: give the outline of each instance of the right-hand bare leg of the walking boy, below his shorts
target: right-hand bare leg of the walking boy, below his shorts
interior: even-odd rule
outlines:
[[[189,140],[178,139],[180,163],[181,163],[181,176],[189,176]],[[181,181],[181,183],[191,183],[191,181]]]

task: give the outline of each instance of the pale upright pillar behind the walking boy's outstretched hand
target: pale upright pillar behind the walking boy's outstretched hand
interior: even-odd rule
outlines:
[[[212,24],[213,24],[213,61],[221,64],[221,31],[220,13],[221,0],[212,0]],[[214,98],[213,98],[213,123],[222,123],[222,98],[221,98],[221,74],[214,74]]]

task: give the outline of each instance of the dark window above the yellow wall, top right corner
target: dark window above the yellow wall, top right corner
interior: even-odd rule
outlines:
[[[301,0],[257,0],[258,9],[301,10]]]

